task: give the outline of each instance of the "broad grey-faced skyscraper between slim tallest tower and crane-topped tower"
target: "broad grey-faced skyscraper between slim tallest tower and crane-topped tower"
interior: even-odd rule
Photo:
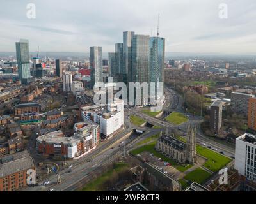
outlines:
[[[149,36],[136,34],[132,38],[131,82],[149,82]]]

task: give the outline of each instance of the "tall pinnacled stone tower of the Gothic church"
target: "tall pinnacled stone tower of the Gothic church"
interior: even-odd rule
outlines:
[[[196,163],[196,128],[188,126],[187,142],[186,142],[186,157],[188,163]]]

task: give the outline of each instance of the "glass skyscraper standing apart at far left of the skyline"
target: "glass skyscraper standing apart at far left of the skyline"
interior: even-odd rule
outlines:
[[[19,42],[16,42],[16,57],[19,79],[22,84],[26,84],[28,82],[28,78],[31,77],[28,40],[20,39]]]

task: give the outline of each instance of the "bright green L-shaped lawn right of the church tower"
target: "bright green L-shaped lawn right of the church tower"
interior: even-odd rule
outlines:
[[[232,159],[225,157],[217,152],[214,152],[206,147],[196,145],[196,152],[208,160],[204,163],[204,166],[209,170],[216,172],[226,166]]]

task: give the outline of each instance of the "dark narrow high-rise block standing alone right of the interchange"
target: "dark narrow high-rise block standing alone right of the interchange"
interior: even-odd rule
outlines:
[[[215,101],[210,110],[210,128],[214,133],[220,131],[222,125],[222,102]]]

